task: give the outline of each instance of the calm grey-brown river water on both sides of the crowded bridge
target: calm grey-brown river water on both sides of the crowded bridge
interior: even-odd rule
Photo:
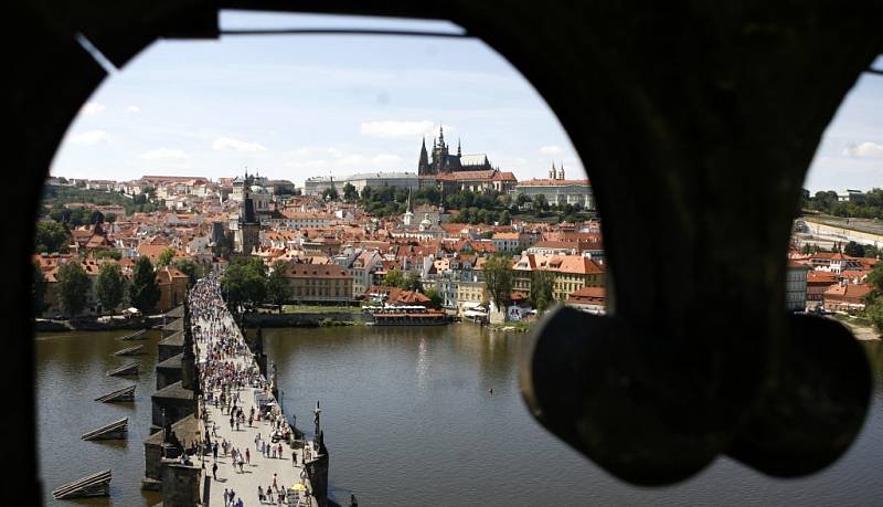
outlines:
[[[110,499],[85,505],[151,505],[140,492],[157,336],[135,359],[147,367],[135,403],[92,401],[129,380],[106,378],[123,332],[41,335],[36,341],[39,446],[43,497],[87,473],[113,468]],[[883,498],[883,349],[864,342],[874,365],[871,414],[833,466],[800,479],[773,479],[721,458],[696,477],[638,488],[606,474],[540,427],[518,391],[523,335],[469,324],[434,328],[337,327],[265,330],[278,366],[286,413],[311,431],[321,401],[331,455],[331,493],[345,505],[875,505]],[[491,395],[489,390],[493,389]],[[126,443],[79,435],[129,416]],[[247,496],[246,496],[247,498]],[[61,505],[61,503],[58,503]],[[256,504],[256,499],[255,499]]]

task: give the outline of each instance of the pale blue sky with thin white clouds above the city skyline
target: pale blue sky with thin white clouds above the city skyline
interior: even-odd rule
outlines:
[[[222,12],[221,28],[387,28],[448,22]],[[883,67],[883,57],[877,60]],[[439,126],[451,151],[483,152],[520,179],[583,163],[555,115],[502,56],[474,39],[225,35],[159,41],[109,75],[71,125],[53,176],[416,171]],[[866,74],[826,131],[810,190],[883,187],[883,77]]]

